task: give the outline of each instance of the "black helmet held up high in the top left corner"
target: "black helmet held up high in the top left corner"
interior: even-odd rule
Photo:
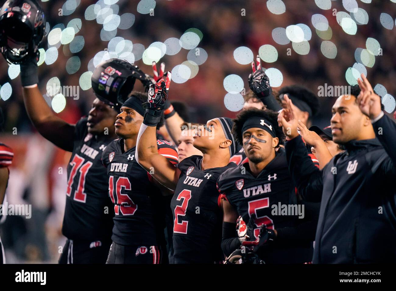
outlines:
[[[44,39],[44,11],[34,0],[8,0],[0,9],[0,50],[8,63],[38,56]]]

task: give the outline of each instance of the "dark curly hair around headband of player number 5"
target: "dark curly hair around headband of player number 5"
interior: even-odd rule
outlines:
[[[269,109],[261,110],[257,108],[247,108],[239,112],[239,114],[233,120],[234,126],[232,127],[232,133],[234,134],[236,141],[240,145],[243,144],[242,127],[244,126],[246,120],[251,117],[260,117],[267,119],[269,122],[271,122],[272,126],[274,126],[276,137],[278,137],[279,139],[278,146],[284,144],[285,135],[283,134],[282,127],[278,126],[278,112]]]

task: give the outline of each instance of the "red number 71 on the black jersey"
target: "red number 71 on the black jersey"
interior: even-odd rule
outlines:
[[[78,179],[77,190],[74,191],[73,199],[76,201],[80,201],[85,203],[87,199],[87,194],[84,193],[84,186],[85,186],[85,176],[88,173],[89,168],[92,166],[92,162],[88,161],[83,164],[85,161],[84,158],[81,158],[78,154],[74,155],[73,160],[70,162],[72,165],[72,169],[70,171],[69,181],[67,181],[67,196],[70,196],[72,191],[72,184],[74,177],[77,175],[77,170],[80,172],[80,178]]]

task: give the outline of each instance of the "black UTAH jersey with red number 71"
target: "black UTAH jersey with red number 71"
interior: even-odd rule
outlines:
[[[67,165],[62,226],[63,235],[71,240],[93,242],[111,238],[114,211],[107,197],[107,173],[101,162],[102,152],[110,141],[97,141],[88,133],[87,117],[77,122],[73,152]]]

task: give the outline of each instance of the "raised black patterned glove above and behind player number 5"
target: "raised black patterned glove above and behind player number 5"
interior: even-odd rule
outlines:
[[[267,97],[272,93],[270,87],[270,79],[267,74],[265,74],[263,68],[261,67],[261,60],[259,55],[256,57],[256,63],[253,61],[251,63],[252,74],[249,75],[249,87],[253,93],[259,98]]]

